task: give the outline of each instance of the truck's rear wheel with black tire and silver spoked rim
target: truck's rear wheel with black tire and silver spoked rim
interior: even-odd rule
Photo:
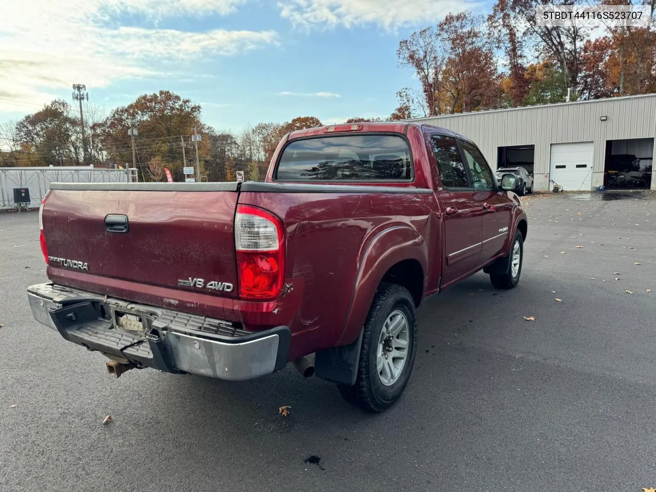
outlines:
[[[384,337],[397,325],[396,335]],[[400,326],[400,327],[399,327]],[[389,356],[403,352],[405,333],[405,359]],[[392,337],[392,338],[390,338]],[[381,344],[382,343],[382,344]],[[392,348],[394,346],[394,348]],[[381,356],[379,356],[382,354]],[[381,283],[367,321],[363,327],[362,346],[358,361],[358,375],[353,386],[339,384],[344,400],[371,412],[382,412],[391,407],[405,390],[417,353],[417,316],[415,302],[405,287],[396,283]],[[382,361],[382,364],[379,363]],[[390,370],[390,365],[392,366]],[[394,373],[394,370],[398,373]]]

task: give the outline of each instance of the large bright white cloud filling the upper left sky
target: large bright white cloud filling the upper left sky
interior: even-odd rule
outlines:
[[[245,0],[31,0],[3,2],[0,22],[0,112],[43,104],[54,89],[88,88],[161,73],[162,62],[233,56],[277,44],[276,31],[159,29],[165,18],[225,15]],[[121,25],[121,16],[144,20]],[[4,94],[4,95],[3,95]]]

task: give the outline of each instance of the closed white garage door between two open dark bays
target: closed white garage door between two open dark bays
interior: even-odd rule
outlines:
[[[592,189],[592,142],[551,144],[551,176],[563,190]]]

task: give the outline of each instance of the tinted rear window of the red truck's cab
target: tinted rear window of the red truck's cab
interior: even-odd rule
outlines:
[[[277,168],[280,181],[407,181],[410,149],[401,136],[342,135],[295,140]]]

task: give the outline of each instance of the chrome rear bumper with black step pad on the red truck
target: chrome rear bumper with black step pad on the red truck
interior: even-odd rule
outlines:
[[[137,367],[246,380],[287,364],[286,326],[248,332],[230,321],[143,306],[52,283],[28,287],[34,318],[88,350],[127,359]],[[133,316],[130,330],[117,313]]]

